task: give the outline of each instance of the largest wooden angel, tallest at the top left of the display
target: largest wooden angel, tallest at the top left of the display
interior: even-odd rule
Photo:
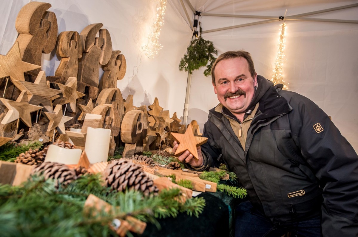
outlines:
[[[25,62],[41,66],[42,53],[49,54],[56,45],[57,19],[54,12],[46,11],[50,7],[46,2],[29,2],[16,17],[19,36],[15,44],[19,44]],[[36,76],[39,71],[33,70],[32,74]]]

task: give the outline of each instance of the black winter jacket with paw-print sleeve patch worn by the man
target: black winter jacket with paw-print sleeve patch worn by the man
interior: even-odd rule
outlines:
[[[357,153],[312,101],[262,76],[257,82],[251,106],[260,103],[245,151],[228,119],[212,109],[204,166],[225,163],[275,225],[321,212],[323,236],[358,236]]]

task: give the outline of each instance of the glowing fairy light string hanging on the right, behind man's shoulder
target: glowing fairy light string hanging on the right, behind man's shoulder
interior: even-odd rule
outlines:
[[[288,84],[285,83],[284,79],[283,79],[283,70],[282,70],[282,66],[284,64],[284,62],[286,61],[285,59],[285,54],[284,54],[284,50],[285,50],[285,42],[286,42],[286,22],[282,22],[281,26],[281,32],[280,32],[280,39],[279,39],[279,49],[277,50],[277,56],[276,56],[276,60],[275,60],[275,69],[274,74],[272,75],[271,81],[274,82],[274,84],[283,84],[284,88],[283,89],[287,89],[288,88]]]

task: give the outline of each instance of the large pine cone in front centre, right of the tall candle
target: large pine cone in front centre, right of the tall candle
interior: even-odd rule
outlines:
[[[142,191],[145,196],[158,194],[158,188],[143,171],[140,165],[129,160],[119,159],[109,163],[105,169],[106,185],[113,190],[123,192],[128,188]]]

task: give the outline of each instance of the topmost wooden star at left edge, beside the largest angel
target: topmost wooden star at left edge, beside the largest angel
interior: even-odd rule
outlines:
[[[10,76],[13,83],[14,81],[25,81],[24,72],[40,67],[21,60],[19,42],[11,47],[6,56],[0,55],[0,78]]]

